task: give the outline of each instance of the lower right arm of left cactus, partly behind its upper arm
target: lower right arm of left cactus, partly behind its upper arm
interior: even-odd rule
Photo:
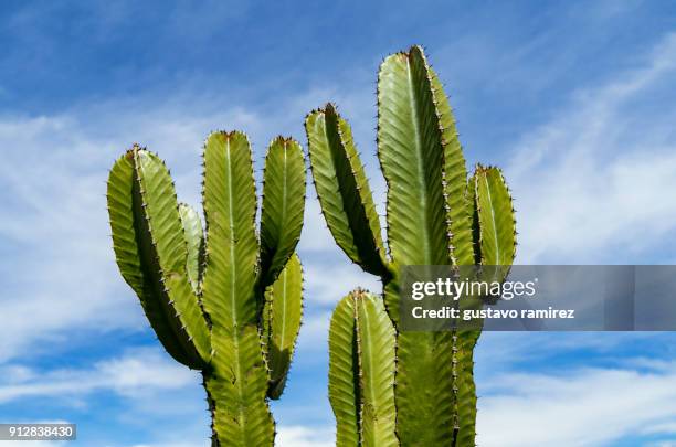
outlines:
[[[288,259],[275,283],[267,288],[265,307],[264,316],[268,318],[264,324],[270,370],[267,396],[276,400],[286,385],[303,316],[303,268],[298,255]]]

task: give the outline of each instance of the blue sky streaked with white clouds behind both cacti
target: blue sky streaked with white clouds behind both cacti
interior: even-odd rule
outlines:
[[[305,143],[305,114],[331,99],[382,212],[376,73],[413,43],[446,85],[468,160],[505,168],[518,263],[676,262],[670,2],[112,3],[0,4],[2,422],[75,422],[78,446],[207,446],[199,376],[162,351],[117,273],[107,169],[147,145],[198,205],[210,130],[249,132],[261,168],[274,136]],[[328,316],[355,286],[379,287],[308,195],[305,324],[273,405],[285,447],[332,445]],[[674,351],[668,333],[486,333],[478,443],[676,446]]]

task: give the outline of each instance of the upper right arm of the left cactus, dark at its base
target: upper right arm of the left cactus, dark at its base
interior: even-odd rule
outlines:
[[[274,283],[292,257],[303,228],[305,160],[295,140],[275,138],[265,157],[261,211],[263,287]]]

